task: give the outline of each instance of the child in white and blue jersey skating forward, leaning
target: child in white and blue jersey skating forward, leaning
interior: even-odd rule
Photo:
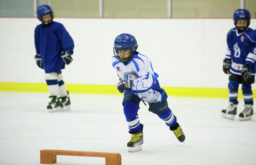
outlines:
[[[158,83],[158,74],[154,72],[148,57],[136,52],[137,46],[133,35],[122,33],[115,38],[112,57],[113,68],[120,80],[116,87],[120,93],[124,92],[122,105],[129,133],[132,134],[127,143],[128,150],[134,152],[142,149],[143,124],[138,117],[141,100],[148,102],[149,111],[165,121],[178,140],[183,142],[185,135],[176,122],[176,116],[168,107],[167,94]]]

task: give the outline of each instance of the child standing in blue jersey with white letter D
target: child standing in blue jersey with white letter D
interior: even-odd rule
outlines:
[[[253,115],[253,94],[251,84],[256,73],[256,32],[249,28],[250,13],[247,9],[237,9],[234,13],[236,28],[227,35],[228,50],[223,60],[223,71],[230,74],[228,83],[229,105],[221,111],[221,116],[234,120],[237,111],[239,84],[242,84],[245,109],[239,120],[251,120]]]

